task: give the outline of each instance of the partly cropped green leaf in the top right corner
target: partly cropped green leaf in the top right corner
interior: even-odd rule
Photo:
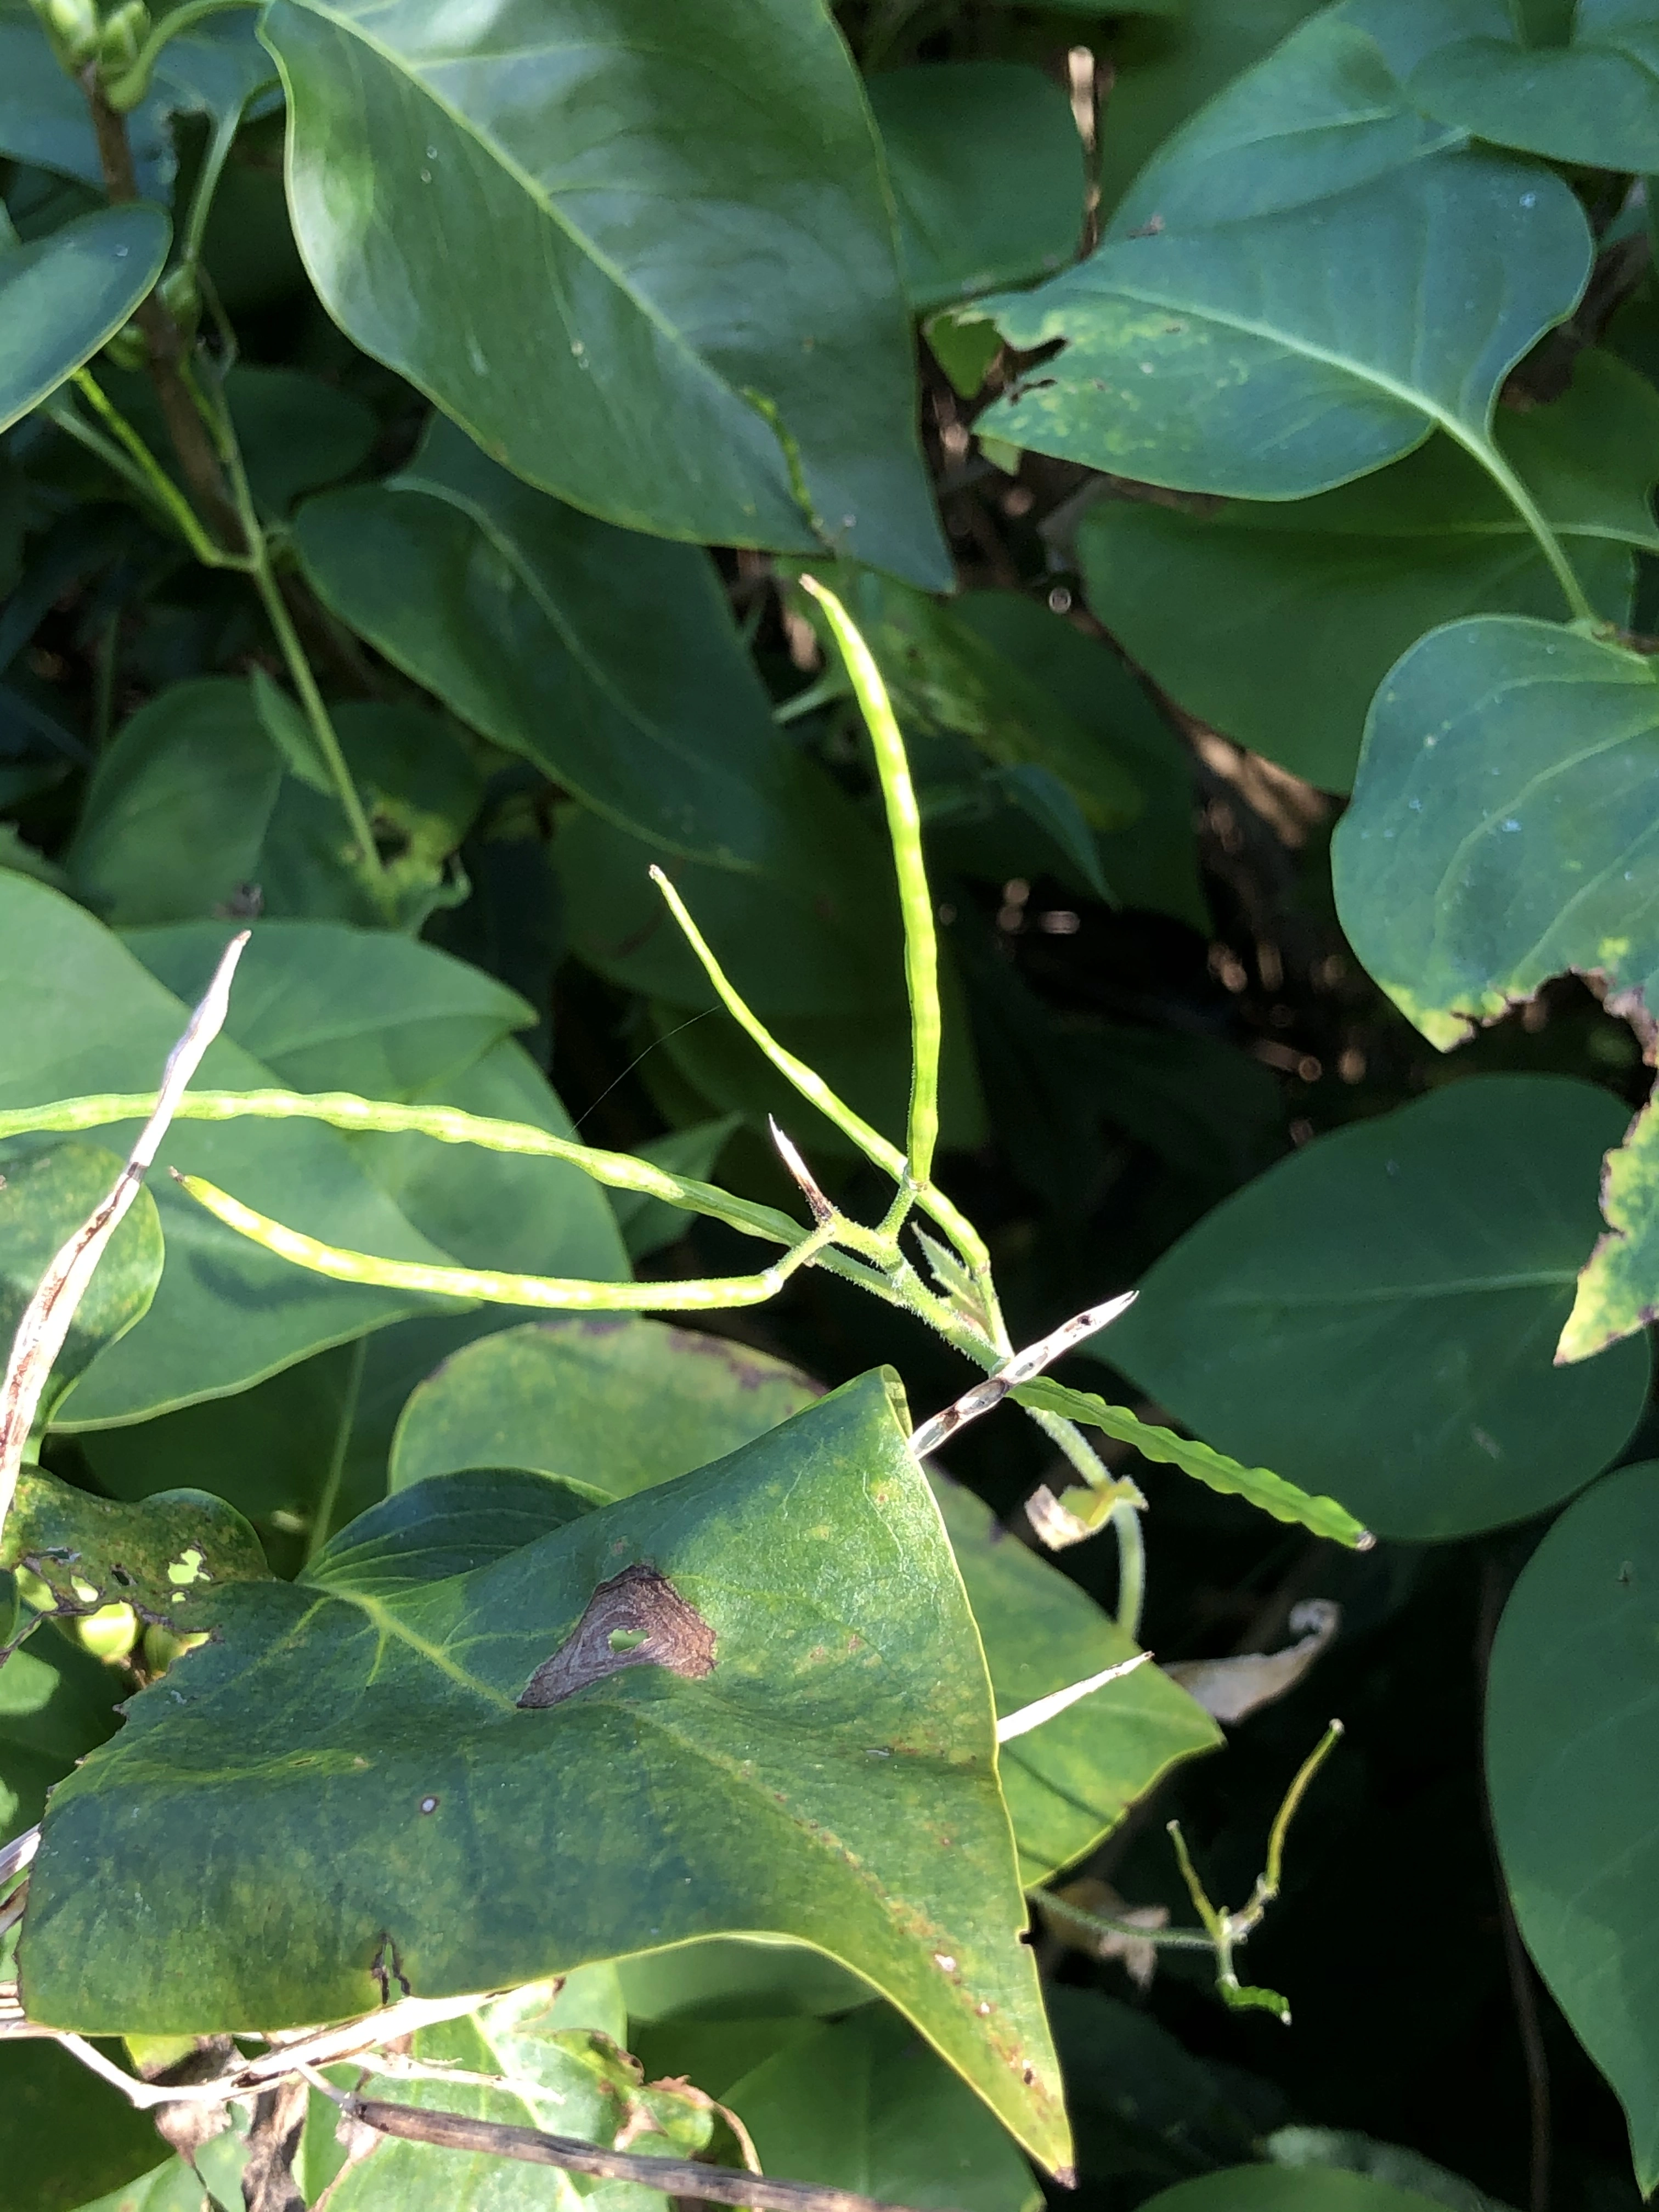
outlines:
[[[1650,0],[1577,0],[1564,46],[1513,22],[1449,38],[1411,71],[1411,100],[1471,137],[1586,168],[1659,168],[1659,22]]]

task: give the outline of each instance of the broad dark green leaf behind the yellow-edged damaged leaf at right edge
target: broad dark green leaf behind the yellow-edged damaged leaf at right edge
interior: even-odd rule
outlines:
[[[1590,1084],[1493,1075],[1321,1137],[1157,1261],[1110,1360],[1378,1535],[1540,1513],[1606,1467],[1646,1396],[1641,1345],[1551,1365],[1621,1126]]]

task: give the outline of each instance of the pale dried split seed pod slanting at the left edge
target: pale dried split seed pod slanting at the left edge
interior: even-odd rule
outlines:
[[[22,1321],[18,1323],[18,1334],[11,1340],[7,1378],[4,1385],[0,1385],[0,1531],[4,1531],[7,1513],[11,1511],[11,1500],[18,1489],[18,1471],[22,1469],[22,1453],[35,1425],[40,1394],[44,1391],[46,1378],[64,1349],[69,1325],[75,1318],[80,1301],[86,1296],[86,1285],[93,1281],[93,1272],[104,1256],[111,1237],[126,1219],[133,1199],[139,1194],[139,1183],[161,1148],[161,1137],[166,1137],[177,1104],[184,1097],[190,1077],[201,1066],[201,1055],[223,1029],[226,1011],[230,1006],[230,978],[237,973],[237,962],[241,960],[246,942],[248,931],[243,929],[241,936],[226,945],[206,998],[190,1015],[190,1024],[179,1042],[168,1053],[155,1113],[139,1130],[139,1139],[133,1146],[126,1166],[115,1177],[111,1194],[93,1208],[69,1243],[58,1252],[51,1267],[46,1267],[40,1287],[29,1301]]]

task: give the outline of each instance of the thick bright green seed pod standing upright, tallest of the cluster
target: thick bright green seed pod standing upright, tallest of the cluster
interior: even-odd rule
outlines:
[[[816,577],[803,575],[801,588],[823,606],[830,628],[847,664],[847,677],[876,750],[876,774],[880,796],[887,807],[887,836],[894,847],[894,869],[898,874],[898,909],[905,920],[905,989],[909,991],[909,1161],[905,1168],[905,1190],[920,1192],[933,1175],[933,1148],[938,1144],[938,1055],[940,1055],[940,1002],[938,1002],[938,938],[933,933],[933,894],[927,887],[927,865],[922,860],[922,816],[916,805],[916,785],[909,774],[905,739],[887,697],[887,686],[876,668],[865,639],[858,635],[847,608]],[[902,1219],[902,1214],[900,1214]]]

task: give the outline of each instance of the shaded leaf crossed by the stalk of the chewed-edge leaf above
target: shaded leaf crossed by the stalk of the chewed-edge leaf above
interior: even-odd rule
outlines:
[[[1632,549],[1659,549],[1652,385],[1608,354],[1579,354],[1564,398],[1500,411],[1498,445],[1593,604],[1628,624]],[[1164,690],[1327,792],[1349,790],[1371,695],[1425,630],[1562,608],[1537,540],[1447,436],[1312,500],[1217,511],[1106,500],[1077,551],[1088,604]]]

